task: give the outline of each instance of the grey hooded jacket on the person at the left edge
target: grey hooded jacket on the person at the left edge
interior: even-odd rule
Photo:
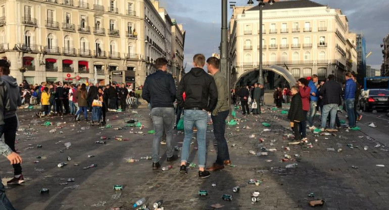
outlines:
[[[20,96],[19,85],[15,78],[3,75],[2,79],[7,85],[8,101],[4,119],[8,119],[16,116],[16,110],[22,106],[22,97]]]

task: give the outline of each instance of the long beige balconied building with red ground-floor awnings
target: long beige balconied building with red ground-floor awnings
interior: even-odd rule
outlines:
[[[111,71],[127,70],[137,87],[147,65],[172,49],[165,37],[171,25],[154,0],[3,0],[0,7],[0,56],[30,84],[107,84]]]

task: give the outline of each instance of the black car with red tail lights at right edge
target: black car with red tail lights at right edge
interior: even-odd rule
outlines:
[[[362,91],[359,107],[365,112],[371,109],[389,110],[389,90],[369,89]]]

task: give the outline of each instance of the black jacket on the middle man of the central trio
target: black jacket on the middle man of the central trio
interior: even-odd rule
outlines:
[[[182,94],[185,92],[185,100]],[[201,108],[212,112],[217,103],[215,80],[202,68],[192,68],[178,85],[177,103],[182,108]],[[209,98],[209,103],[208,103]]]

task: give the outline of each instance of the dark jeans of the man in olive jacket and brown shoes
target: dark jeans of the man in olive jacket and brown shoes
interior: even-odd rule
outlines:
[[[217,158],[216,164],[224,165],[224,161],[230,160],[227,141],[224,137],[225,120],[229,114],[229,110],[220,112],[216,116],[211,116],[213,122],[213,133],[217,141]]]

